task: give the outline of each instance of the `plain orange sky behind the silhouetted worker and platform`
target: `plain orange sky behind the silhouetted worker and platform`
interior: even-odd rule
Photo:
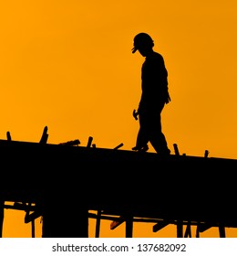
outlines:
[[[236,11],[234,0],[4,1],[0,137],[38,142],[47,125],[50,144],[93,136],[130,150],[144,60],[132,40],[147,32],[169,72],[162,123],[172,153],[178,144],[181,154],[237,158]],[[9,211],[4,235],[26,235]]]

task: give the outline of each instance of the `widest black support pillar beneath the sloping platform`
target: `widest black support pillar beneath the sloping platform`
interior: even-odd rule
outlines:
[[[67,205],[62,198],[67,198]],[[44,238],[88,238],[88,205],[76,198],[71,191],[60,189],[44,197]]]

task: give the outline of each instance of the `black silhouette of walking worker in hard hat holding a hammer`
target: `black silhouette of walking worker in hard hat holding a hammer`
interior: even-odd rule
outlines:
[[[165,135],[161,130],[161,112],[170,102],[168,71],[160,53],[153,50],[153,39],[147,33],[134,37],[132,53],[139,50],[145,61],[141,68],[141,97],[138,111],[133,116],[138,119],[139,133],[135,151],[147,151],[150,143],[160,155],[170,155]]]

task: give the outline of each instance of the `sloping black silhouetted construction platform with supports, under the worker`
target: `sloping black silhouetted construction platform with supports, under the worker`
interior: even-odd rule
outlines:
[[[46,238],[87,238],[89,218],[97,237],[100,219],[126,222],[125,237],[134,221],[176,224],[177,237],[183,225],[237,228],[236,159],[115,149],[0,140],[0,232],[4,208],[42,216]]]

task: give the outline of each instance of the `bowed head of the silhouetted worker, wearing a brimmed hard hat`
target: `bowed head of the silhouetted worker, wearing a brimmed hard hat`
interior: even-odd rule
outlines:
[[[146,56],[146,53],[152,50],[154,42],[152,38],[147,33],[139,33],[133,39],[132,53],[135,53],[139,50],[139,53],[143,56]]]

